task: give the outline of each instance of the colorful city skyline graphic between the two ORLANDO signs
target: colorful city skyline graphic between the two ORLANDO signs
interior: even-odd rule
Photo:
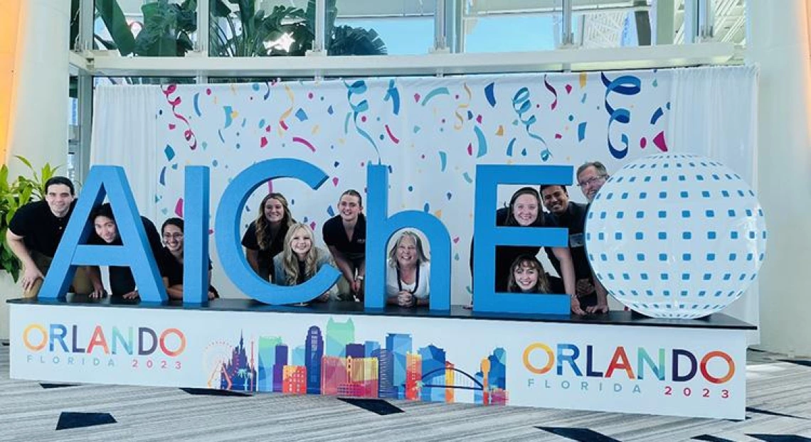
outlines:
[[[383,343],[355,342],[351,318],[338,322],[331,317],[324,331],[311,325],[302,345],[292,348],[278,336],[246,338],[241,332],[238,343],[227,346],[229,358],[208,361],[208,386],[448,403],[466,391],[473,393],[472,402],[477,404],[508,402],[504,348],[494,349],[470,374],[438,346],[413,351],[411,334],[388,333]]]

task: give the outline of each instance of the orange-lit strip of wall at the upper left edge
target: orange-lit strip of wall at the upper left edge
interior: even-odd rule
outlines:
[[[6,159],[11,123],[11,87],[14,86],[15,49],[19,4],[21,0],[4,0],[0,14],[0,158]]]

